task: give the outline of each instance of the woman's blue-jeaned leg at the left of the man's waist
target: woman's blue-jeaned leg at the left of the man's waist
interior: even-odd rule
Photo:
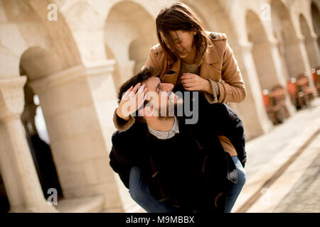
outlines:
[[[129,192],[132,199],[148,213],[171,213],[172,209],[164,202],[159,202],[149,191],[139,167],[134,166],[130,171]]]

